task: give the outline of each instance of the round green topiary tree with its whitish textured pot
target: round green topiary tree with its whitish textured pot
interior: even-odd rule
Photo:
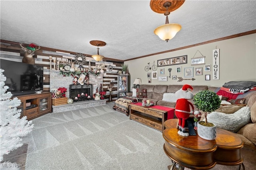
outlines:
[[[216,126],[207,122],[207,114],[215,111],[220,107],[221,100],[219,96],[210,90],[201,90],[194,95],[194,104],[199,110],[204,111],[205,121],[198,121],[198,136],[206,140],[214,140],[216,138]]]

